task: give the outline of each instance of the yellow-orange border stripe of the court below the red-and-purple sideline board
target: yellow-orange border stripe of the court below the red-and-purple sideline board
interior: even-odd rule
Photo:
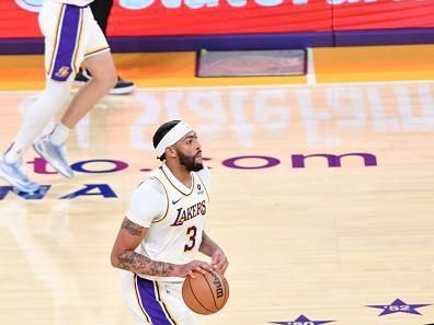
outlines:
[[[106,48],[105,48],[106,49]],[[96,49],[101,51],[103,49]],[[434,45],[313,48],[317,83],[434,79]],[[118,74],[137,88],[306,84],[304,77],[196,78],[195,53],[113,55]],[[43,56],[0,56],[0,90],[44,88]]]

